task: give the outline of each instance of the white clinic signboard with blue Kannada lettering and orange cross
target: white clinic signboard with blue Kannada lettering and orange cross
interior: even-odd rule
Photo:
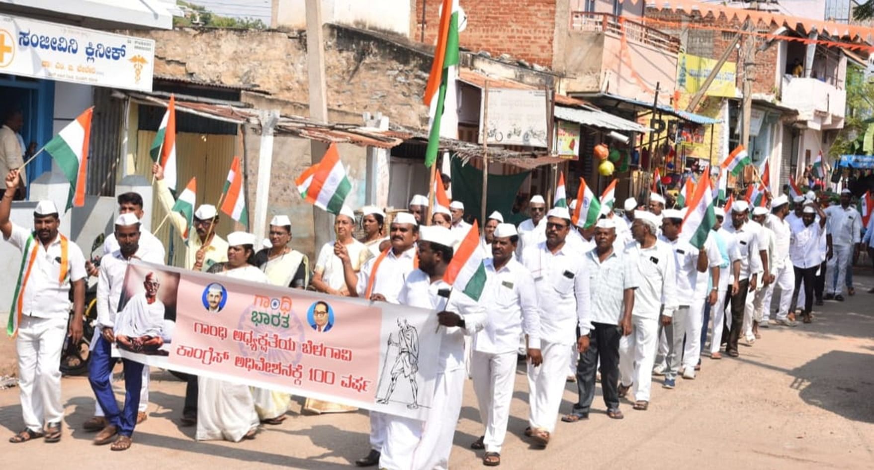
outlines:
[[[0,73],[150,92],[155,41],[0,15]]]

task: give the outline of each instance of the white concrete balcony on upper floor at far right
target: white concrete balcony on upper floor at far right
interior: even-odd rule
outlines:
[[[843,128],[847,92],[820,79],[787,77],[782,79],[783,106],[798,111],[798,121],[814,130]]]

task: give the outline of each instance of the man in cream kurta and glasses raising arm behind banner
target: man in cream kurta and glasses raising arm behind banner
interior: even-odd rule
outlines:
[[[170,218],[170,223],[173,224],[179,237],[185,240],[185,269],[206,271],[216,263],[227,261],[227,242],[216,233],[218,212],[215,206],[212,204],[198,206],[198,210],[194,211],[192,223],[196,234],[189,233],[191,227],[188,226],[188,220],[180,212],[173,211],[176,200],[163,179],[161,165],[157,163],[152,165],[152,174],[155,175],[158,201],[163,206],[163,210],[169,214],[167,217]]]

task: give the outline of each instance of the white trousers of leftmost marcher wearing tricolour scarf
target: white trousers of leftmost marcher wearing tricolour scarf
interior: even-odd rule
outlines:
[[[11,314],[11,313],[10,313]],[[44,425],[60,423],[60,353],[66,338],[66,318],[23,316],[15,342],[18,354],[18,389],[24,425],[42,432]]]

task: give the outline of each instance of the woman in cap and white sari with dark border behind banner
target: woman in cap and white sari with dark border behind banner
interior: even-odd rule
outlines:
[[[255,253],[255,266],[267,274],[274,286],[305,289],[309,285],[309,259],[291,247],[291,220],[274,216],[270,220],[270,246]]]

